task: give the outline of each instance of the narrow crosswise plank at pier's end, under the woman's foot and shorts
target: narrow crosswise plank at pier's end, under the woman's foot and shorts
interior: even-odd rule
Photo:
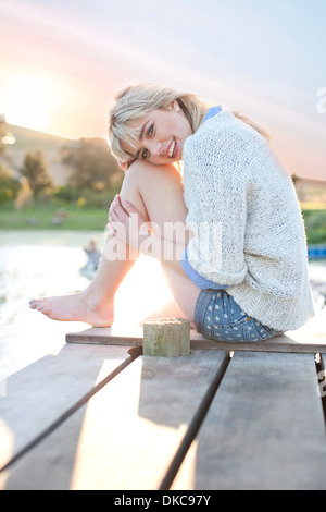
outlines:
[[[100,345],[142,346],[141,327],[130,328],[124,332],[108,328],[89,328],[82,332],[66,334],[67,343],[88,343]],[[191,350],[240,351],[240,352],[285,352],[318,353],[326,352],[326,332],[314,332],[306,329],[289,331],[286,334],[262,342],[222,342],[203,338],[190,330]]]

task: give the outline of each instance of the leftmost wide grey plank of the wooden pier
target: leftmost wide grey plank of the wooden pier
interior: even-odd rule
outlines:
[[[135,351],[139,353],[127,346],[65,345],[58,355],[12,375],[0,399],[0,470],[129,364]]]

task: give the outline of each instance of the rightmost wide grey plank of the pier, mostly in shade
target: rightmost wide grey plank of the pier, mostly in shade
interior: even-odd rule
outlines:
[[[191,489],[326,489],[313,355],[236,353],[173,489],[191,470]]]

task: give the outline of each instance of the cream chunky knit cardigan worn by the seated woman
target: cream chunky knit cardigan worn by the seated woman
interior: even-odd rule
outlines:
[[[314,315],[306,241],[290,176],[269,143],[229,111],[185,142],[190,265],[276,330]]]

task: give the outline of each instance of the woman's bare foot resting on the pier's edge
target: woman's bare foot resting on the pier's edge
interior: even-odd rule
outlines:
[[[29,307],[52,320],[85,321],[93,327],[110,327],[113,322],[113,302],[98,304],[86,291],[75,295],[33,298]]]

